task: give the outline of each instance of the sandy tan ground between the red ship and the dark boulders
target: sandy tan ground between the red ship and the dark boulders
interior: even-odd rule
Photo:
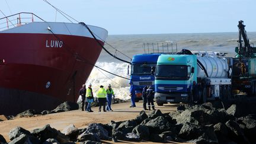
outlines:
[[[112,105],[113,112],[98,112],[98,107],[92,108],[94,113],[87,113],[81,110],[68,111],[63,113],[47,114],[44,116],[18,118],[14,120],[0,121],[0,134],[9,140],[8,133],[16,126],[23,127],[27,130],[33,130],[41,128],[46,124],[50,124],[51,127],[62,131],[69,124],[74,124],[79,129],[87,127],[89,123],[109,123],[110,120],[121,121],[135,119],[141,111],[142,103],[137,103],[135,108],[129,107],[130,103],[121,103]],[[164,106],[156,106],[156,109],[162,111],[162,113],[168,113],[175,111],[175,104],[166,104]],[[146,113],[150,113],[147,111]],[[104,141],[103,143],[114,143],[111,141]],[[121,143],[134,143],[134,142],[121,142]],[[152,143],[152,142],[139,142],[139,143]]]

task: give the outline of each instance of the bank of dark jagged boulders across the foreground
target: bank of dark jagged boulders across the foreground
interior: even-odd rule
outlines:
[[[177,111],[140,111],[132,120],[108,124],[90,123],[85,129],[73,124],[61,132],[49,124],[41,129],[12,129],[9,143],[101,143],[102,140],[132,142],[256,143],[255,101],[181,104]],[[0,142],[7,140],[0,135]]]

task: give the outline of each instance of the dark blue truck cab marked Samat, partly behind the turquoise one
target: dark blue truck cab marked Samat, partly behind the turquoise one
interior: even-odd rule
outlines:
[[[130,79],[135,87],[135,101],[142,100],[142,89],[145,85],[155,88],[155,72],[152,72],[152,69],[155,70],[160,55],[161,53],[149,53],[133,56]]]

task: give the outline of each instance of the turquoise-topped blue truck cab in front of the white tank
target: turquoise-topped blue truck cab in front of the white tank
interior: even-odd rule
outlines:
[[[161,55],[155,70],[155,101],[187,102],[193,81],[197,81],[196,55]]]

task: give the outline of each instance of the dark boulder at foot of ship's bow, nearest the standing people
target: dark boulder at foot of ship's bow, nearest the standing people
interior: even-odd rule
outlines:
[[[63,111],[71,111],[71,110],[78,110],[79,106],[77,103],[72,103],[70,101],[65,101],[64,103],[58,105],[54,110],[53,113],[59,113]]]

